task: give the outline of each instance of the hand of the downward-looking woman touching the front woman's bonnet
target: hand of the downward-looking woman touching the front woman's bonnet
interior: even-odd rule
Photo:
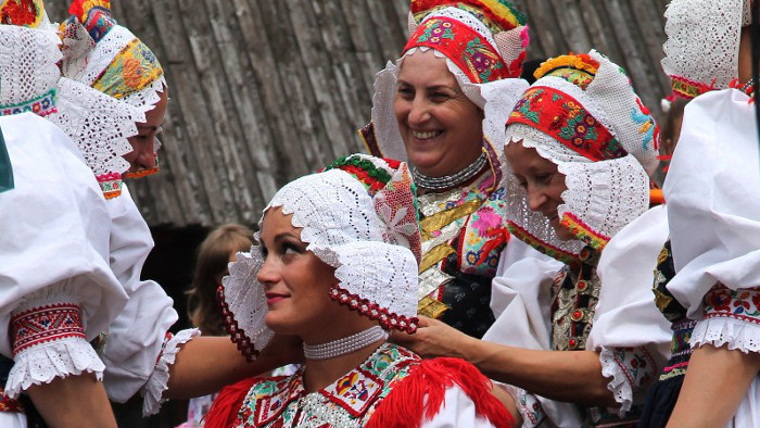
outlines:
[[[420,316],[417,331],[414,335],[393,331],[389,340],[423,358],[453,356],[467,361],[465,351],[468,343],[477,339],[438,319]]]

